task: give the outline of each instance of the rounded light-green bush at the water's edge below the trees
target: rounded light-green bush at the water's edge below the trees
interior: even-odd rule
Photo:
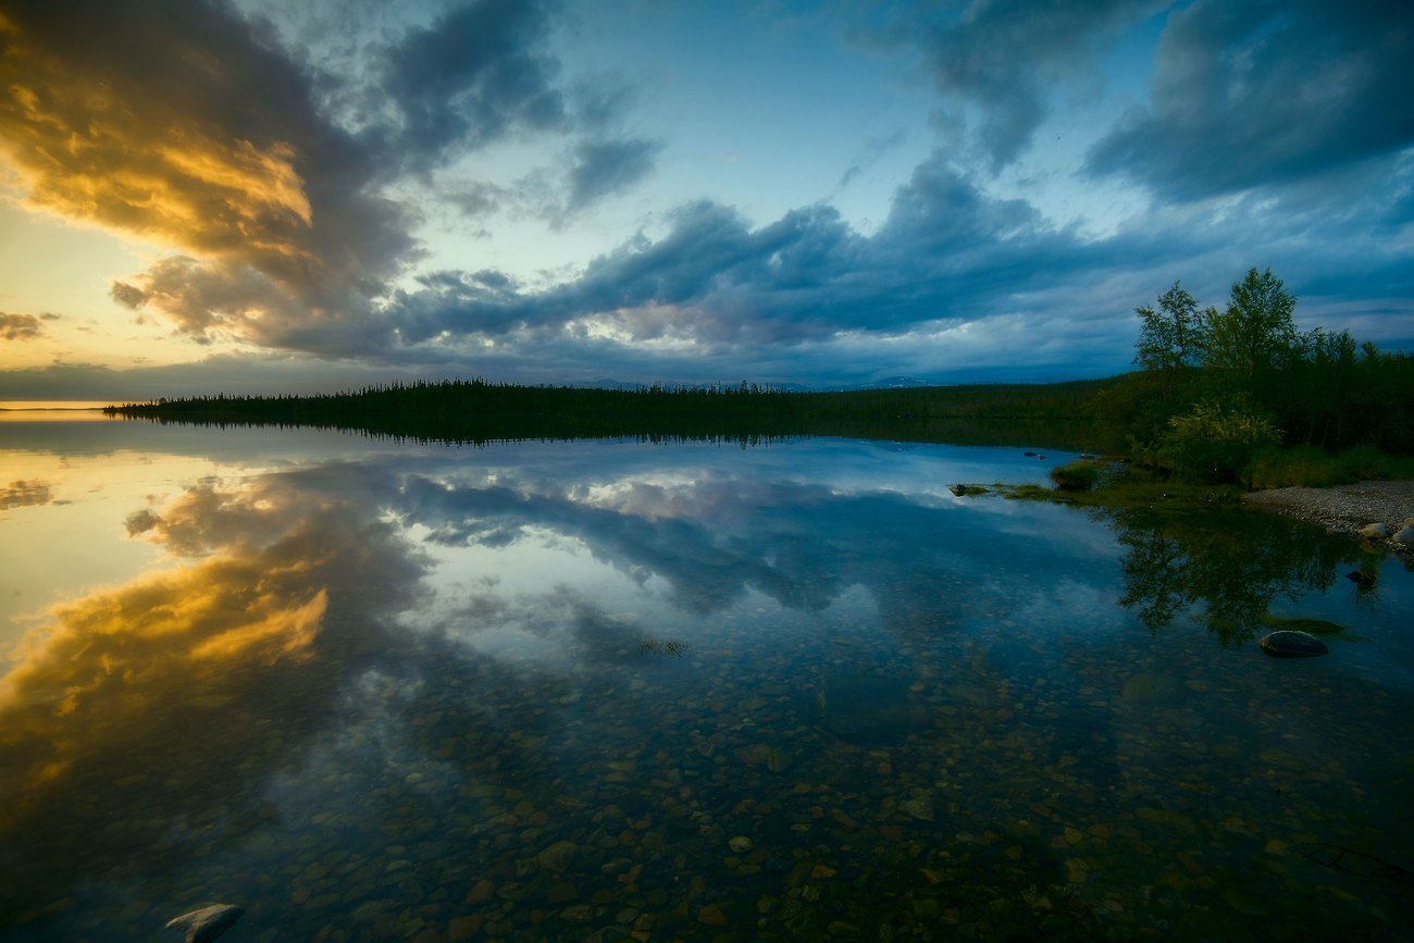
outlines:
[[[1258,448],[1281,438],[1271,420],[1241,399],[1203,400],[1168,426],[1162,454],[1179,476],[1210,485],[1237,481]]]

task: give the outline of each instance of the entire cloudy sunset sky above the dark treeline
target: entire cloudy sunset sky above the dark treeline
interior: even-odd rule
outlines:
[[[1414,351],[1414,4],[0,0],[0,400]]]

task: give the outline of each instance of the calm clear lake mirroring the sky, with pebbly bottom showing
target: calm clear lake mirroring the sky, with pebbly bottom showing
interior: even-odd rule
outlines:
[[[0,937],[1408,939],[1414,574],[1022,451],[0,424]]]

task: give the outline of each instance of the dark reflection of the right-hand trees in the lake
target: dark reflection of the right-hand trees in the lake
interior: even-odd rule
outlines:
[[[1150,632],[1193,609],[1225,646],[1251,640],[1278,595],[1329,590],[1359,560],[1346,537],[1246,510],[1124,508],[1099,512],[1120,546],[1124,597]]]

